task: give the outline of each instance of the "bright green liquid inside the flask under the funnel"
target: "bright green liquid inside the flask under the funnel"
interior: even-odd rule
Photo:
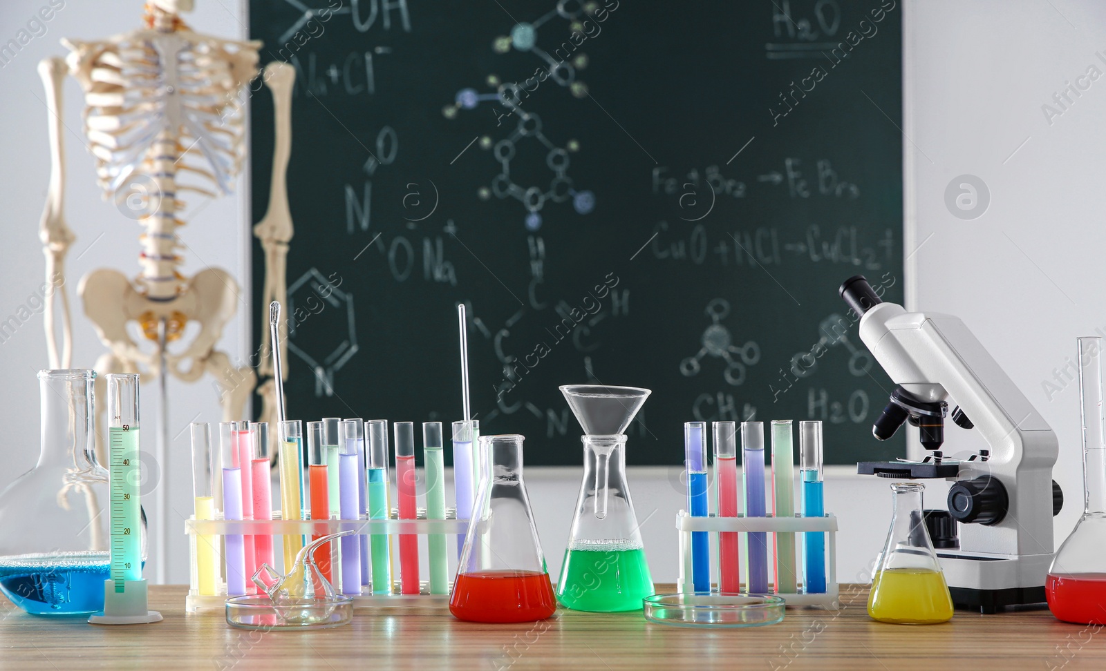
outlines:
[[[574,542],[557,587],[562,606],[593,613],[640,610],[654,594],[645,551],[627,543]]]

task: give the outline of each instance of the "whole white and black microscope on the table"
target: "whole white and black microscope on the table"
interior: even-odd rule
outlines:
[[[958,608],[1043,604],[1052,518],[1063,505],[1052,479],[1056,435],[960,319],[884,302],[859,275],[839,294],[860,318],[860,340],[898,385],[873,435],[886,440],[909,422],[929,450],[921,461],[862,461],[857,472],[953,482],[948,511],[927,510],[925,522]],[[940,450],[950,401],[952,422],[988,445],[964,460]]]

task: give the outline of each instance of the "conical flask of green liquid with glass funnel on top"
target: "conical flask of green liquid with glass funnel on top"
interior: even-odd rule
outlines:
[[[627,386],[570,385],[561,393],[584,427],[584,479],[565,548],[557,599],[593,613],[639,610],[654,594],[626,482],[626,436],[650,394]]]

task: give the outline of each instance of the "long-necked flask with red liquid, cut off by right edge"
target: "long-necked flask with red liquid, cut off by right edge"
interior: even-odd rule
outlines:
[[[1106,625],[1106,432],[1103,339],[1079,338],[1083,516],[1056,551],[1045,581],[1048,609],[1065,622]]]

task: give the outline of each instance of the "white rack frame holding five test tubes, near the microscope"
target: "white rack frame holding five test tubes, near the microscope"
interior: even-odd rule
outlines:
[[[787,606],[821,606],[834,608],[837,603],[837,518],[826,514],[824,518],[747,518],[738,515],[735,518],[720,518],[711,514],[707,518],[693,518],[687,511],[679,511],[676,515],[676,529],[679,532],[680,552],[680,577],[677,583],[678,592],[695,592],[691,582],[691,532],[707,531],[711,534],[718,532],[738,532],[748,534],[749,532],[766,533],[803,533],[823,532],[826,534],[826,590],[820,594],[783,594],[772,593],[786,601]],[[748,535],[742,536],[742,540]],[[717,537],[716,537],[717,540]],[[799,547],[801,543],[796,544]],[[717,554],[711,556],[711,566],[717,568]],[[795,566],[802,565],[801,562]],[[717,571],[716,571],[717,573]],[[744,584],[744,581],[742,581]]]

